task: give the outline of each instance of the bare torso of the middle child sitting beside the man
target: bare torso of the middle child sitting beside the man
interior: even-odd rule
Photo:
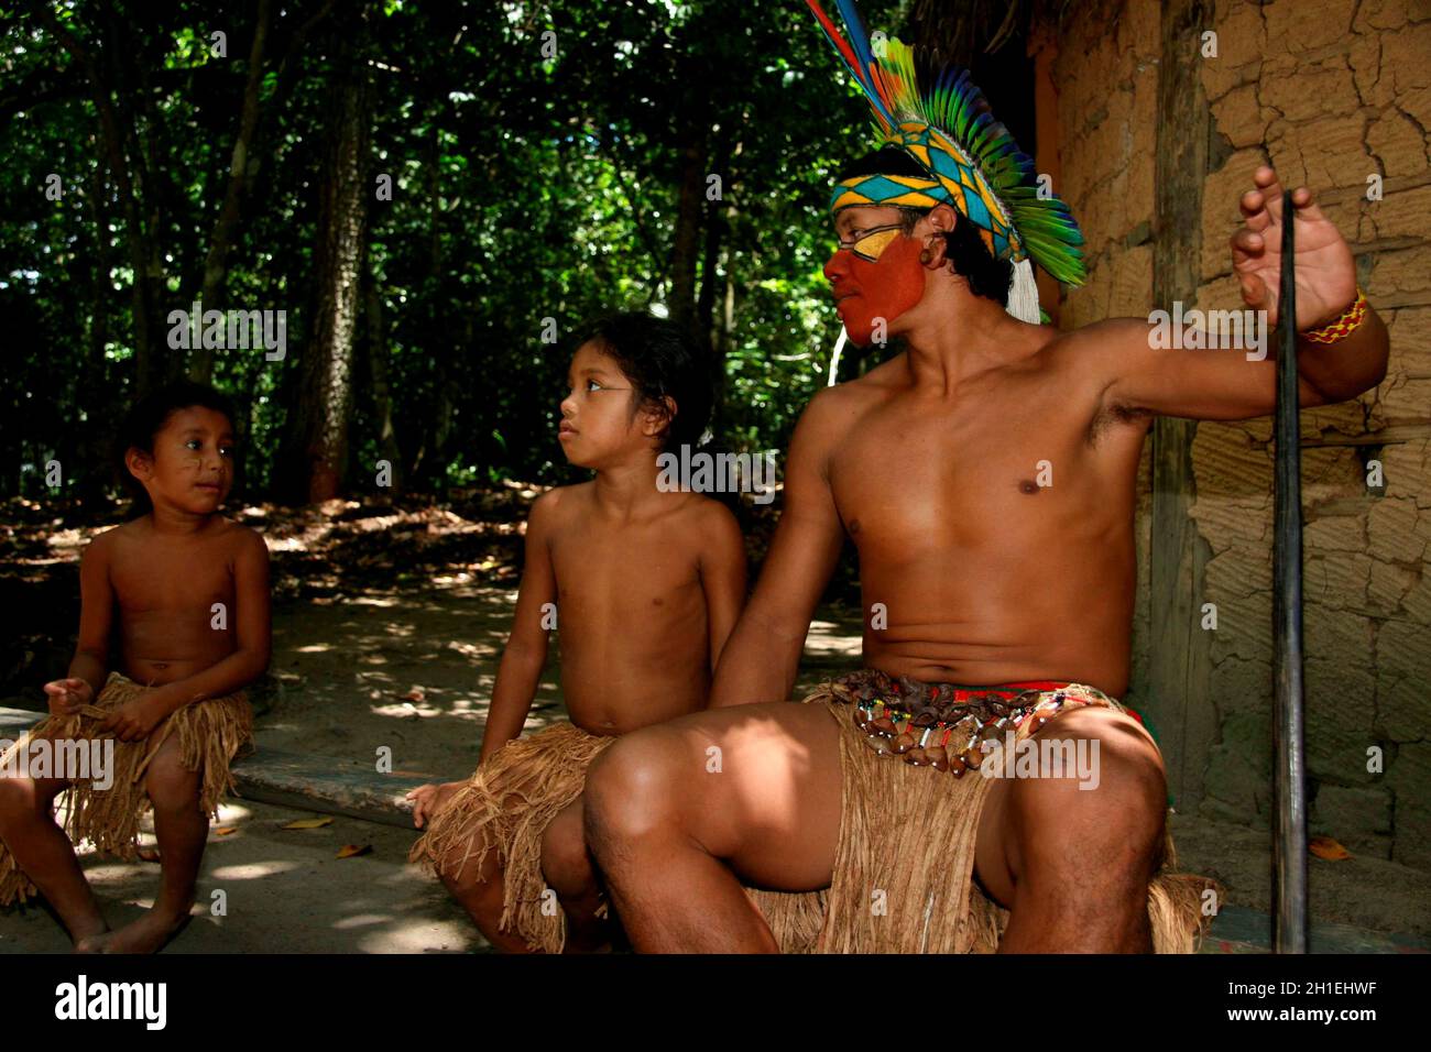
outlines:
[[[693,515],[707,498],[673,492],[657,515],[615,522],[590,485],[564,497],[551,558],[571,721],[624,734],[704,708],[710,625]]]

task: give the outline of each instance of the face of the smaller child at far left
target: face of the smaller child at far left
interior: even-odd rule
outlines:
[[[169,414],[155,434],[155,451],[130,448],[124,458],[130,474],[149,491],[149,500],[179,511],[213,514],[233,485],[233,425],[202,405]]]

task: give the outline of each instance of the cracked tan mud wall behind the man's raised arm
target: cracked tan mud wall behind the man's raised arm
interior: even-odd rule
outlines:
[[[1241,308],[1228,238],[1238,195],[1271,162],[1309,185],[1352,246],[1391,331],[1387,379],[1359,399],[1302,414],[1307,734],[1314,833],[1354,852],[1431,866],[1431,3],[1425,0],[1099,0],[1052,36],[1058,192],[1088,238],[1086,286],[1060,325],[1145,316],[1156,268],[1159,76],[1169,26],[1195,11],[1218,34],[1198,64],[1208,135],[1195,303]],[[1168,20],[1168,21],[1165,21]],[[1045,43],[1045,46],[1049,46]],[[1166,84],[1165,84],[1166,87]],[[1165,129],[1166,136],[1166,129]],[[1039,143],[1040,170],[1047,143]],[[1368,200],[1378,176],[1381,199]],[[1196,190],[1196,185],[1193,186]],[[1166,306],[1166,305],[1158,305]],[[1192,432],[1183,551],[1192,608],[1185,707],[1158,681],[1149,577],[1176,560],[1152,527],[1151,452],[1139,479],[1139,597],[1129,700],[1173,713],[1178,807],[1266,827],[1271,804],[1271,419]],[[1152,445],[1152,442],[1149,444]],[[1368,485],[1379,465],[1381,487]],[[1188,545],[1185,545],[1188,547]],[[1367,770],[1378,747],[1384,770]]]

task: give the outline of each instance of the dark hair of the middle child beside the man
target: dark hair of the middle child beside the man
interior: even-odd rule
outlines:
[[[675,402],[661,434],[661,449],[693,449],[711,415],[714,378],[710,355],[703,352],[683,325],[665,318],[628,312],[600,318],[578,329],[571,351],[587,342],[610,355],[631,381],[635,405],[665,414],[664,398]]]

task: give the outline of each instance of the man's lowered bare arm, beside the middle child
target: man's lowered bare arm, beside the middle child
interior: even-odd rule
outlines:
[[[790,697],[810,618],[844,540],[826,465],[846,398],[840,391],[821,391],[796,425],[786,459],[784,511],[756,593],[721,651],[711,708]]]

